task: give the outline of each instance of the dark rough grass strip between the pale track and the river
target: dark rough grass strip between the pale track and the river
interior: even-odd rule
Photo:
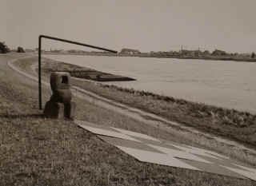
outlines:
[[[145,91],[124,89],[115,85],[94,86],[85,82],[83,87],[104,97],[166,117],[170,121],[178,121],[196,129],[256,145],[256,115],[254,114]]]

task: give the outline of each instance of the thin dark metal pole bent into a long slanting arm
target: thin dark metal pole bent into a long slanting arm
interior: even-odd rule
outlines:
[[[38,38],[38,101],[39,101],[39,109],[42,109],[42,81],[41,81],[41,48],[42,48],[42,38],[46,38],[46,39],[51,39],[51,40],[55,40],[55,41],[59,41],[59,42],[67,42],[70,44],[74,44],[77,46],[86,46],[86,47],[90,47],[93,49],[101,49],[110,53],[118,53],[115,50],[112,49],[106,49],[106,48],[102,48],[102,47],[98,47],[98,46],[90,46],[87,44],[84,44],[82,42],[73,42],[70,40],[66,40],[66,39],[62,39],[62,38],[54,38],[54,37],[50,37],[50,36],[46,36],[46,35],[40,35]]]

